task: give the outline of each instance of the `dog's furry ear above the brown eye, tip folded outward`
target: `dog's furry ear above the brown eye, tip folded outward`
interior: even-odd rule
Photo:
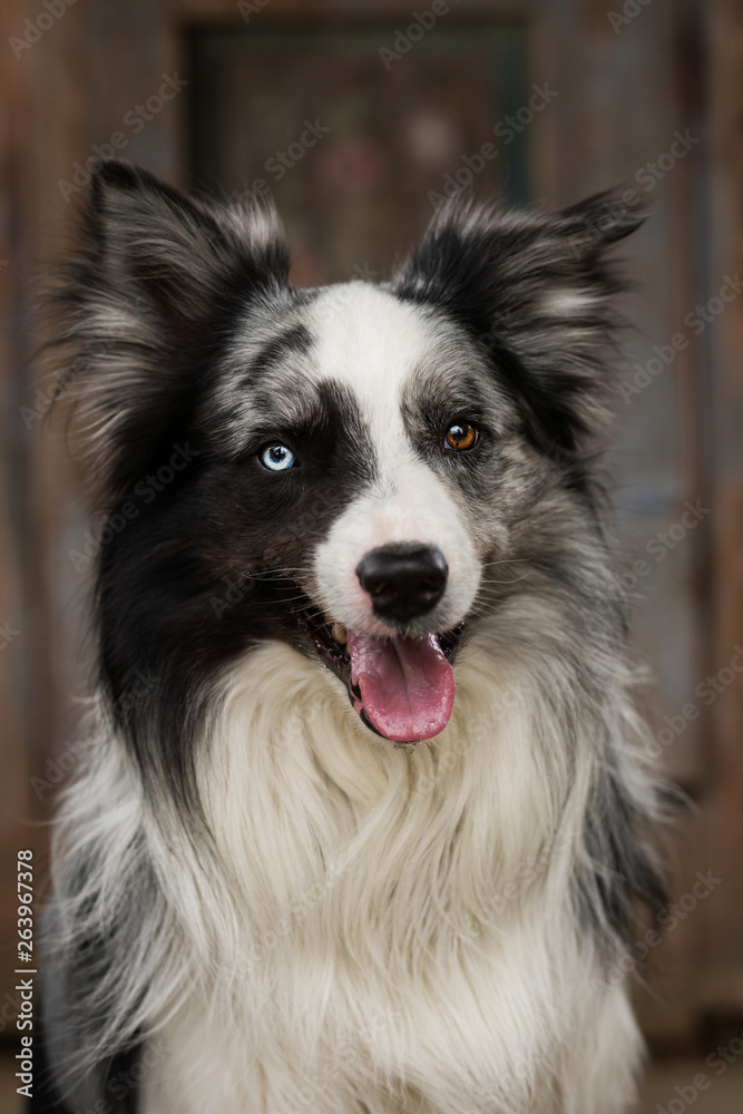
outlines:
[[[570,458],[613,409],[607,370],[625,290],[608,248],[645,214],[610,190],[557,213],[441,208],[394,281],[434,304],[481,345],[545,451]]]

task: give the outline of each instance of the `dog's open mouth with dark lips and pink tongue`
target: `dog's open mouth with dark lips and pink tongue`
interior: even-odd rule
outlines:
[[[370,731],[397,745],[443,731],[454,700],[452,664],[463,623],[443,634],[382,641],[327,623],[313,612],[297,618]]]

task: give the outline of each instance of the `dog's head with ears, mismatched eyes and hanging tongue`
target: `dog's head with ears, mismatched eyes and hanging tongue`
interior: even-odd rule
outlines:
[[[107,512],[104,680],[135,739],[270,639],[378,734],[443,730],[460,643],[556,559],[545,494],[564,535],[588,512],[605,253],[639,221],[613,194],[451,206],[390,282],[303,290],[271,213],[100,167],[56,304]]]

